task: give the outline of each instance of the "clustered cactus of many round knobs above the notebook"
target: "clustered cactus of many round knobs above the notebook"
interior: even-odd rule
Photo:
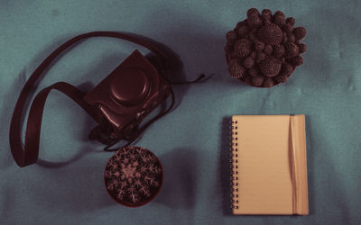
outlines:
[[[247,85],[271,87],[285,83],[296,67],[301,66],[301,54],[306,45],[304,27],[277,11],[264,9],[262,14],[249,9],[247,19],[227,32],[225,48],[230,76]]]

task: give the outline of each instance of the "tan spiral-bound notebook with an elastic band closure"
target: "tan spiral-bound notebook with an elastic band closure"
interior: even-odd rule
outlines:
[[[234,214],[308,215],[304,115],[234,115]]]

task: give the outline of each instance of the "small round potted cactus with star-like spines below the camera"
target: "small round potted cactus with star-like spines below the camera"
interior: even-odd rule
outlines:
[[[162,185],[162,165],[148,149],[136,146],[120,148],[106,164],[107,192],[126,206],[149,202]]]

